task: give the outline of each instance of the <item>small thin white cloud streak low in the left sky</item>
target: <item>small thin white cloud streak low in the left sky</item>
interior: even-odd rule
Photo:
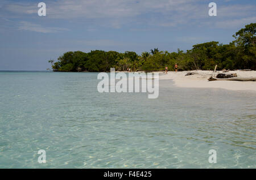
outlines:
[[[41,32],[41,33],[56,33],[56,32],[69,31],[69,29],[67,28],[42,27],[42,25],[40,24],[34,24],[30,22],[20,22],[18,30],[34,31],[34,32]]]

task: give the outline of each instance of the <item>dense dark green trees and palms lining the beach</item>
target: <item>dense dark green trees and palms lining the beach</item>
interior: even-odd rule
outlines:
[[[179,70],[213,70],[218,69],[252,69],[256,70],[256,23],[245,25],[233,37],[230,44],[219,44],[216,41],[193,45],[191,50],[183,52],[162,52],[158,48],[151,52],[138,55],[135,52],[118,53],[114,51],[93,50],[90,53],[67,52],[58,58],[57,62],[49,60],[53,71],[159,71],[168,66],[174,70],[177,63]]]

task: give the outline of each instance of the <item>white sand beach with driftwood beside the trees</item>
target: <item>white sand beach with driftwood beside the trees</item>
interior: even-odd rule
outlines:
[[[185,76],[188,72],[197,72],[198,74]],[[219,71],[220,73],[222,71]],[[256,82],[237,82],[230,80],[212,81],[208,78],[213,71],[168,71],[168,74],[160,72],[159,79],[172,79],[177,87],[184,88],[223,88],[229,90],[251,90],[256,92]],[[237,73],[238,77],[256,77],[256,71],[229,71],[228,73]]]

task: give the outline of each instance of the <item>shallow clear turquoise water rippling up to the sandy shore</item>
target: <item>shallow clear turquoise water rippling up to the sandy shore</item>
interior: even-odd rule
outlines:
[[[160,80],[148,99],[98,93],[98,82],[97,73],[0,72],[0,168],[256,168],[255,92]]]

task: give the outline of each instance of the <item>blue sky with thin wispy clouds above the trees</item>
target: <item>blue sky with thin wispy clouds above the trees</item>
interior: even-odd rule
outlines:
[[[46,16],[39,16],[39,2]],[[210,2],[217,16],[209,16]],[[90,50],[177,52],[195,44],[229,44],[256,23],[256,1],[0,0],[0,70],[50,68],[49,59]]]

